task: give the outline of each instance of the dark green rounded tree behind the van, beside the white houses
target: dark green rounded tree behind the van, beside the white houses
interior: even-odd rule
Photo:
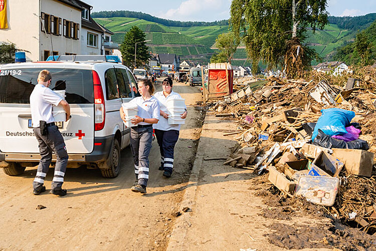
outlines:
[[[124,36],[124,41],[120,45],[121,56],[123,57],[123,63],[126,66],[134,66],[134,53],[136,49],[136,66],[147,63],[150,54],[146,46],[146,35],[137,26],[130,28]],[[137,46],[136,46],[137,43]]]

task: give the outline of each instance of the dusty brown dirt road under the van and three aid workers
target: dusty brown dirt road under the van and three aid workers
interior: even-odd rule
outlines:
[[[16,177],[0,171],[0,250],[165,250],[203,120],[194,107],[201,100],[198,89],[175,83],[173,90],[185,99],[189,113],[175,147],[170,179],[158,170],[156,140],[145,195],[130,191],[135,177],[129,147],[121,152],[121,173],[115,179],[102,178],[95,169],[68,169],[63,186],[68,195],[61,198],[48,193],[53,169],[46,178],[47,191],[39,196],[32,194],[36,168]],[[46,208],[38,210],[38,205]]]

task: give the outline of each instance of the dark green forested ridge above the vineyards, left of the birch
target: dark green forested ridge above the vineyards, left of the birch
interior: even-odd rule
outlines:
[[[142,19],[149,22],[158,23],[165,26],[174,26],[174,27],[193,27],[193,26],[228,26],[228,20],[214,21],[214,22],[182,22],[182,21],[173,21],[167,19],[161,19],[149,14],[142,12],[131,12],[131,11],[101,11],[94,12],[91,14],[92,18],[136,18]]]

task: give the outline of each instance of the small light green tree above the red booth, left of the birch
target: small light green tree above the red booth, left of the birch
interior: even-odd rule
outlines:
[[[240,39],[235,38],[234,33],[232,32],[218,35],[215,46],[220,50],[220,52],[217,55],[214,55],[210,61],[212,63],[227,62],[231,64],[231,60],[233,59],[239,44]]]

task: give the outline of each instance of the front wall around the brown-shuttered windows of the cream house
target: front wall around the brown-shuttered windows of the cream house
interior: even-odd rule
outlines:
[[[33,1],[30,1],[33,2]],[[45,34],[41,30],[41,22],[39,22],[39,59],[44,59],[44,51],[50,51],[50,54],[52,56],[52,47],[54,49],[54,52],[57,52],[58,55],[65,55],[66,53],[71,54],[80,54],[81,47],[80,47],[80,33],[82,31],[81,28],[81,11],[75,8],[72,8],[68,5],[64,5],[61,2],[57,2],[54,0],[43,0],[41,1],[41,12],[47,13],[49,15],[53,15],[55,17],[59,17],[62,19],[62,24],[60,27],[60,36],[52,35],[52,34]],[[79,36],[78,40],[75,40],[73,38],[66,38],[63,34],[63,27],[64,27],[64,19],[68,20],[70,22],[74,22],[76,24],[80,25],[79,29]],[[52,37],[52,46],[51,46],[51,38]]]

